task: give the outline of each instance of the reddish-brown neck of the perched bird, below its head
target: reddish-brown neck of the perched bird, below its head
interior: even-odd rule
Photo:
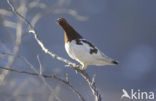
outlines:
[[[62,25],[62,28],[65,34],[65,43],[82,38],[82,36],[78,34],[69,24]]]

